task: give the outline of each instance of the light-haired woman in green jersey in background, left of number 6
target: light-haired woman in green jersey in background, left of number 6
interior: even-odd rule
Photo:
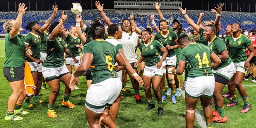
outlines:
[[[72,73],[72,69],[74,67],[74,70],[80,65],[80,54],[79,49],[81,50],[83,47],[81,39],[77,36],[76,27],[70,26],[69,29],[70,34],[65,34],[66,37],[66,47],[69,49],[69,51],[75,56],[75,58],[79,61],[78,63],[75,63],[74,59],[67,55],[65,56],[65,62],[66,66],[70,73]],[[80,85],[79,79],[77,79],[77,84]],[[79,89],[77,86],[75,86],[75,89]]]

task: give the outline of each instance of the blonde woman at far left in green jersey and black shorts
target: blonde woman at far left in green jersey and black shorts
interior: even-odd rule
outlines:
[[[5,36],[5,62],[3,66],[3,74],[9,81],[12,89],[12,95],[8,100],[8,108],[5,120],[22,120],[23,117],[16,114],[25,115],[29,112],[24,111],[21,106],[26,96],[24,88],[24,66],[25,66],[25,52],[27,55],[32,55],[32,51],[27,49],[24,44],[24,36],[20,35],[23,31],[21,27],[22,16],[25,14],[27,7],[24,3],[19,4],[18,16],[16,20],[10,19],[3,24]]]

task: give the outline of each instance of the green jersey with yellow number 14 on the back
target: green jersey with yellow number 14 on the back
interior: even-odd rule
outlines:
[[[180,61],[188,61],[191,64],[188,77],[213,76],[210,54],[213,51],[200,43],[191,43],[181,49]]]

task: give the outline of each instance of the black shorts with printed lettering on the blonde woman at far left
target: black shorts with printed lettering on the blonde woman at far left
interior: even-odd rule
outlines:
[[[3,68],[4,77],[9,81],[20,81],[24,79],[24,66],[20,67],[4,67]]]

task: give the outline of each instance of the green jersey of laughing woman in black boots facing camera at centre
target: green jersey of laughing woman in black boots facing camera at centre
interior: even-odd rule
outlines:
[[[163,45],[157,40],[151,40],[148,44],[141,44],[141,56],[145,58],[146,66],[154,66],[160,61],[159,51]]]

